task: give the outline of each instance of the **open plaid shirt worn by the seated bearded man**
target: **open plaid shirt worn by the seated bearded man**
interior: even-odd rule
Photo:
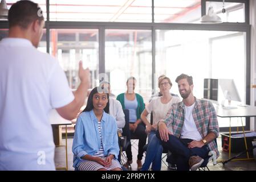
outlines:
[[[196,97],[195,99],[196,104],[194,105],[192,115],[201,137],[205,138],[210,131],[212,131],[216,137],[218,137],[218,120],[212,103],[205,100],[198,100]],[[177,138],[180,138],[181,129],[184,123],[184,107],[185,105],[183,102],[173,104],[168,113],[165,115],[165,118],[161,120],[162,122],[166,123],[168,130],[171,131],[171,133],[173,133],[173,135]],[[215,151],[216,157],[218,158],[220,153],[218,152],[217,144],[214,140],[208,143],[208,148],[210,151]]]

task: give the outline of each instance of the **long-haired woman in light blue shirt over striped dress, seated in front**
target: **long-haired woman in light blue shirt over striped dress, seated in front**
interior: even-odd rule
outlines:
[[[76,121],[73,167],[79,171],[121,171],[117,124],[109,113],[108,90],[92,89]]]

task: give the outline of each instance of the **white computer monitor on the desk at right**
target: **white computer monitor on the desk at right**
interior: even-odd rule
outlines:
[[[221,89],[224,94],[224,99],[228,100],[229,104],[230,101],[241,102],[241,98],[233,79],[218,79],[218,85],[220,87],[219,89]]]

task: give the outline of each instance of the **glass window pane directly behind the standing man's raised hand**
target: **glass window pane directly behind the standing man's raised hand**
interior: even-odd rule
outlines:
[[[99,33],[94,29],[51,29],[50,54],[59,60],[72,89],[78,88],[79,61],[91,71],[91,86],[99,83]]]

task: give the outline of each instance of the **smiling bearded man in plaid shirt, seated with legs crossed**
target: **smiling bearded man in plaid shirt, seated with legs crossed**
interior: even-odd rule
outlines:
[[[160,120],[156,136],[172,152],[172,163],[177,164],[177,170],[195,171],[209,151],[219,155],[214,141],[219,134],[217,115],[211,102],[193,96],[192,76],[181,74],[176,82],[183,100],[173,104]]]

